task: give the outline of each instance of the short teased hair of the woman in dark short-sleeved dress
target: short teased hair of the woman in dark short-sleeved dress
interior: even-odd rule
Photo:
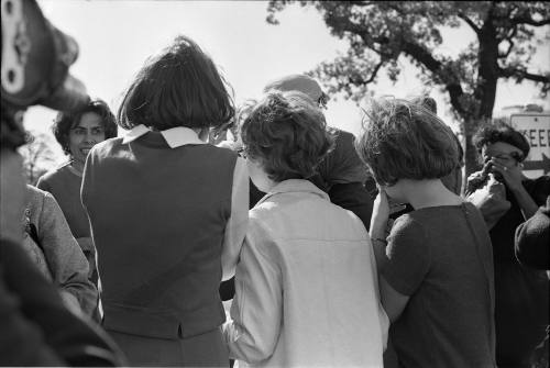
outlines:
[[[365,112],[355,148],[377,183],[442,178],[459,166],[453,132],[422,105],[382,99]]]

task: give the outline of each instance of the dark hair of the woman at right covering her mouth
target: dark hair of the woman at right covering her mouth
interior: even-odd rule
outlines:
[[[510,125],[503,121],[496,121],[482,125],[472,138],[477,153],[482,153],[483,146],[492,143],[503,142],[517,147],[524,154],[516,157],[520,163],[529,155],[529,142],[527,138]]]

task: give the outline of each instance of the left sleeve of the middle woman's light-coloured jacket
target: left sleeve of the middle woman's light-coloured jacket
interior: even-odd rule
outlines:
[[[223,325],[230,357],[249,364],[272,356],[280,332],[282,275],[270,236],[251,223],[237,266],[232,320]]]

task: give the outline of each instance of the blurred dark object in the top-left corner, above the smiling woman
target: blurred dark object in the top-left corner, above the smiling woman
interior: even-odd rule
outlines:
[[[34,1],[2,1],[2,107],[29,105],[69,111],[89,101],[68,68],[78,57],[76,41],[57,30]]]

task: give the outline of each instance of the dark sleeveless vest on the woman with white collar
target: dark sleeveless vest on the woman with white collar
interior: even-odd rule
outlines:
[[[218,287],[235,161],[206,144],[169,148],[157,132],[94,147],[82,203],[108,331],[177,339],[223,323]]]

